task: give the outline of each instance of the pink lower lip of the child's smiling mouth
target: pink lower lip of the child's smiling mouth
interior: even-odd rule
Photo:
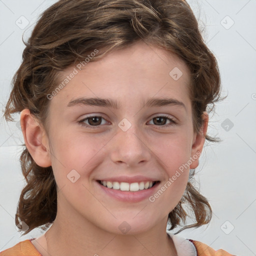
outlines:
[[[118,199],[119,201],[124,201],[124,202],[138,202],[142,201],[146,198],[149,198],[150,195],[154,193],[154,190],[158,187],[159,183],[154,184],[152,187],[147,188],[147,189],[142,189],[138,191],[121,191],[121,190],[116,190],[113,188],[108,188],[105,187],[101,184],[99,184],[97,181],[96,183],[98,186],[109,196]]]

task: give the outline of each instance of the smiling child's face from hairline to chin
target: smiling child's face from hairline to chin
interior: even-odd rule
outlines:
[[[166,224],[196,153],[188,68],[176,55],[144,43],[81,70],[70,66],[59,83],[74,68],[77,73],[49,100],[43,138],[59,190],[58,210],[113,233],[123,226],[136,233]],[[88,100],[95,97],[116,105]],[[112,182],[105,187],[99,180]],[[157,182],[140,189],[142,181]],[[127,184],[121,182],[138,190],[122,191]],[[122,190],[110,188],[118,184]]]

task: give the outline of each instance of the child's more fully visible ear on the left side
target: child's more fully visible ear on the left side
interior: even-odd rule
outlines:
[[[36,164],[41,167],[50,166],[51,160],[48,149],[48,137],[27,108],[20,112],[20,126],[26,148]]]

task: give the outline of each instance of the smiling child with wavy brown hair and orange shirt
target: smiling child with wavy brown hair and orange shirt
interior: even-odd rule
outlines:
[[[211,219],[191,178],[220,99],[186,1],[60,0],[22,58],[4,113],[25,142],[15,223],[50,227],[0,256],[231,255],[170,232]]]

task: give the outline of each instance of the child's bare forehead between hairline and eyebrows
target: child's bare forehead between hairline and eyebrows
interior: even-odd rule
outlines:
[[[116,96],[125,104],[166,94],[187,101],[189,83],[190,72],[182,59],[140,42],[112,51],[99,60],[77,62],[60,71],[58,84],[64,86],[51,101],[67,106],[77,96]]]

